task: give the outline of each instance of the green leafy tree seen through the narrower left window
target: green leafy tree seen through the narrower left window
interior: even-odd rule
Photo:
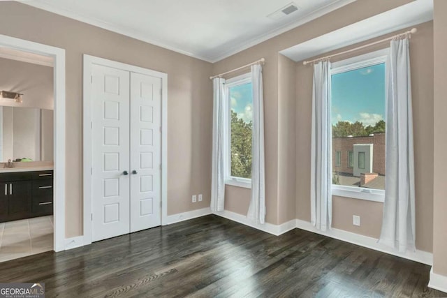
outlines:
[[[251,128],[231,110],[231,176],[251,178]]]

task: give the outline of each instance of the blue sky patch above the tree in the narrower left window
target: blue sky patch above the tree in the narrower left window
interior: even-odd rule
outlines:
[[[251,83],[235,86],[230,89],[231,110],[245,122],[253,120],[253,95]]]

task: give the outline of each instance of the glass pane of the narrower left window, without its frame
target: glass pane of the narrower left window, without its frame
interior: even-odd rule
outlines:
[[[230,113],[230,174],[251,178],[251,128],[253,127],[253,96],[251,83],[229,89]]]

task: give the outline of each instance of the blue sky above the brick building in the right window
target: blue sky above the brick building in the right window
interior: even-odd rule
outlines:
[[[385,117],[385,64],[332,75],[332,124],[360,121],[374,126]]]

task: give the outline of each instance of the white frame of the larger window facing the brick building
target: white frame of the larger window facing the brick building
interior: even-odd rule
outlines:
[[[332,75],[337,75],[338,73],[346,73],[351,70],[356,70],[358,68],[365,68],[368,66],[374,66],[376,64],[385,64],[385,96],[386,101],[388,100],[388,80],[387,80],[387,70],[388,70],[388,56],[390,53],[390,48],[369,52],[367,54],[362,54],[349,59],[344,59],[342,61],[337,61],[332,63],[330,69],[330,77]],[[385,101],[385,117],[386,117],[386,101]],[[331,107],[332,109],[332,104]],[[331,132],[332,140],[332,132]],[[348,163],[349,163],[349,151],[348,151]],[[383,189],[373,189],[365,187],[355,187],[355,186],[344,186],[332,184],[332,195],[353,198],[359,200],[367,200],[372,202],[385,202],[385,190]]]

